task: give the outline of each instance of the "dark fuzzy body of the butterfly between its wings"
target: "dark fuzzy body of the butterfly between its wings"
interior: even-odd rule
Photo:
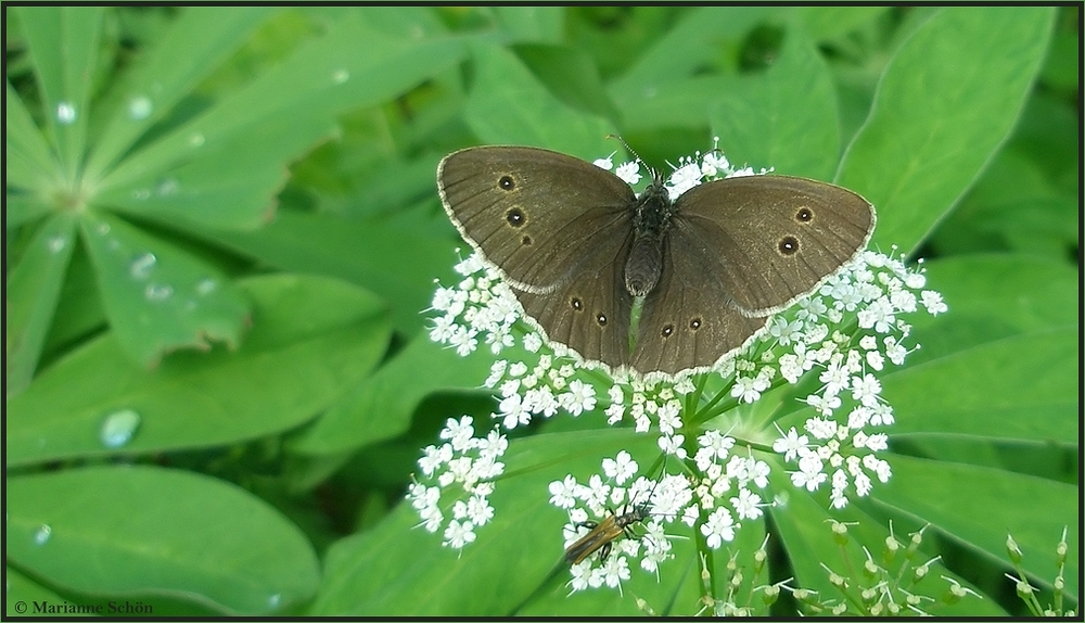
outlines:
[[[634,204],[633,245],[625,260],[625,289],[634,296],[647,296],[663,270],[663,241],[674,203],[663,180],[656,176]]]

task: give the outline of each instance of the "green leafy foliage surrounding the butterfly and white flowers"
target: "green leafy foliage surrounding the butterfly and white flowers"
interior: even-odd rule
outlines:
[[[877,206],[873,244],[926,257],[950,313],[883,379],[896,476],[847,511],[859,543],[930,523],[985,595],[941,613],[992,615],[1020,612],[1006,533],[1045,593],[1070,525],[1076,601],[1080,8],[4,12],[9,615],[695,611],[679,565],[536,592],[546,483],[615,443],[558,428],[601,418],[521,440],[460,558],[399,501],[446,418],[493,409],[487,354],[426,338],[461,245],[437,162],[611,132],[656,165],[718,136]],[[774,576],[829,592],[842,517],[804,512]]]

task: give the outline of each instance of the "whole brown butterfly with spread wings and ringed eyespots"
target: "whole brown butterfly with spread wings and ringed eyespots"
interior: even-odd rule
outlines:
[[[869,202],[830,183],[732,177],[672,201],[656,176],[638,198],[591,163],[536,148],[458,151],[437,187],[548,340],[641,374],[716,365],[855,257],[875,227]]]

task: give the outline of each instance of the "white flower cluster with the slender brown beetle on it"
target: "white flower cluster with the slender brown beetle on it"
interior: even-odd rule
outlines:
[[[661,446],[664,440],[660,440]],[[634,509],[643,510],[643,538],[618,536],[610,542],[609,556],[592,551],[572,565],[570,586],[574,592],[604,584],[621,588],[622,581],[630,576],[627,558],[639,558],[643,570],[658,572],[660,563],[673,558],[664,533],[664,526],[672,522],[680,521],[690,527],[700,522],[709,547],[718,549],[735,539],[740,526],[736,516],[740,520],[762,516],[761,494],[752,487],[768,485],[768,463],[731,454],[735,438],[716,430],[703,433],[698,444],[694,461],[703,474],[700,479],[664,474],[653,481],[640,476],[624,487],[639,467],[629,453],[622,450],[613,459],[604,458],[602,474],[592,474],[587,484],[578,483],[572,474],[550,483],[550,504],[569,511],[564,527],[566,551],[609,518],[613,521]],[[615,507],[617,512],[610,510]],[[702,513],[706,519],[700,521]]]

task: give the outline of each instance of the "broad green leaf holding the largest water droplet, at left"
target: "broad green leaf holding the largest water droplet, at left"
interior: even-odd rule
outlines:
[[[46,370],[8,403],[9,467],[279,433],[326,409],[384,355],[387,321],[365,291],[290,275],[242,287],[254,327],[237,352],[178,353],[152,371],[106,334]]]

